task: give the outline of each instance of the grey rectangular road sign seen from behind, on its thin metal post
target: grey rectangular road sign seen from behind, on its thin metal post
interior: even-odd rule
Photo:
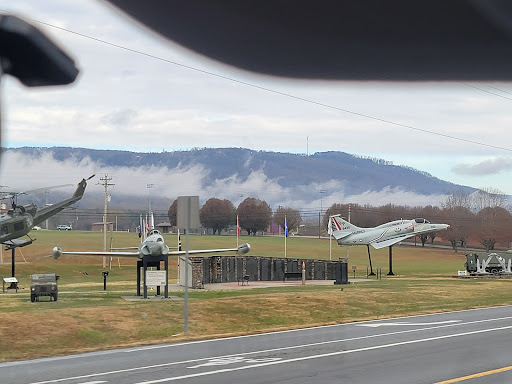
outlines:
[[[188,237],[190,228],[199,228],[199,196],[178,196],[176,221],[178,228],[185,230],[185,309],[184,332],[188,332]]]

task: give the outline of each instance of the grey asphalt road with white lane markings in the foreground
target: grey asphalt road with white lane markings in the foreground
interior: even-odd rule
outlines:
[[[506,306],[3,363],[0,382],[510,383],[511,351]]]

